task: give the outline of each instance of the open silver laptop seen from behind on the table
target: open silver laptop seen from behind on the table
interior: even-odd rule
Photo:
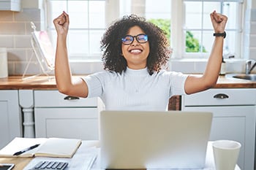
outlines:
[[[100,112],[102,169],[203,169],[211,112]]]

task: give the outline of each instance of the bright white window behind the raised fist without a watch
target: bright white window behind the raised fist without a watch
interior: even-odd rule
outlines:
[[[70,60],[100,58],[99,42],[105,31],[104,0],[47,0],[48,32],[56,45],[53,19],[69,14],[67,47]]]

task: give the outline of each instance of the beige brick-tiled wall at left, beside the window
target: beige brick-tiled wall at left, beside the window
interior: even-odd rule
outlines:
[[[39,1],[23,0],[20,12],[0,11],[0,47],[7,47],[9,75],[23,74],[33,54],[31,48],[31,21],[38,29],[43,25]],[[28,74],[39,73],[33,57]]]

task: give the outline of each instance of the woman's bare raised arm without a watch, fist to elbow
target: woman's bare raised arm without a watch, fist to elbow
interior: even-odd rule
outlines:
[[[53,20],[57,31],[55,77],[59,92],[69,96],[88,96],[88,87],[82,79],[74,80],[70,71],[67,53],[67,33],[69,29],[69,15],[63,12]]]

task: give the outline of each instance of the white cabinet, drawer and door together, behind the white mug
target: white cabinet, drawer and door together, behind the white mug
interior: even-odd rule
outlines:
[[[254,169],[256,89],[210,89],[182,96],[181,109],[213,112],[210,140],[241,142],[238,165]]]

